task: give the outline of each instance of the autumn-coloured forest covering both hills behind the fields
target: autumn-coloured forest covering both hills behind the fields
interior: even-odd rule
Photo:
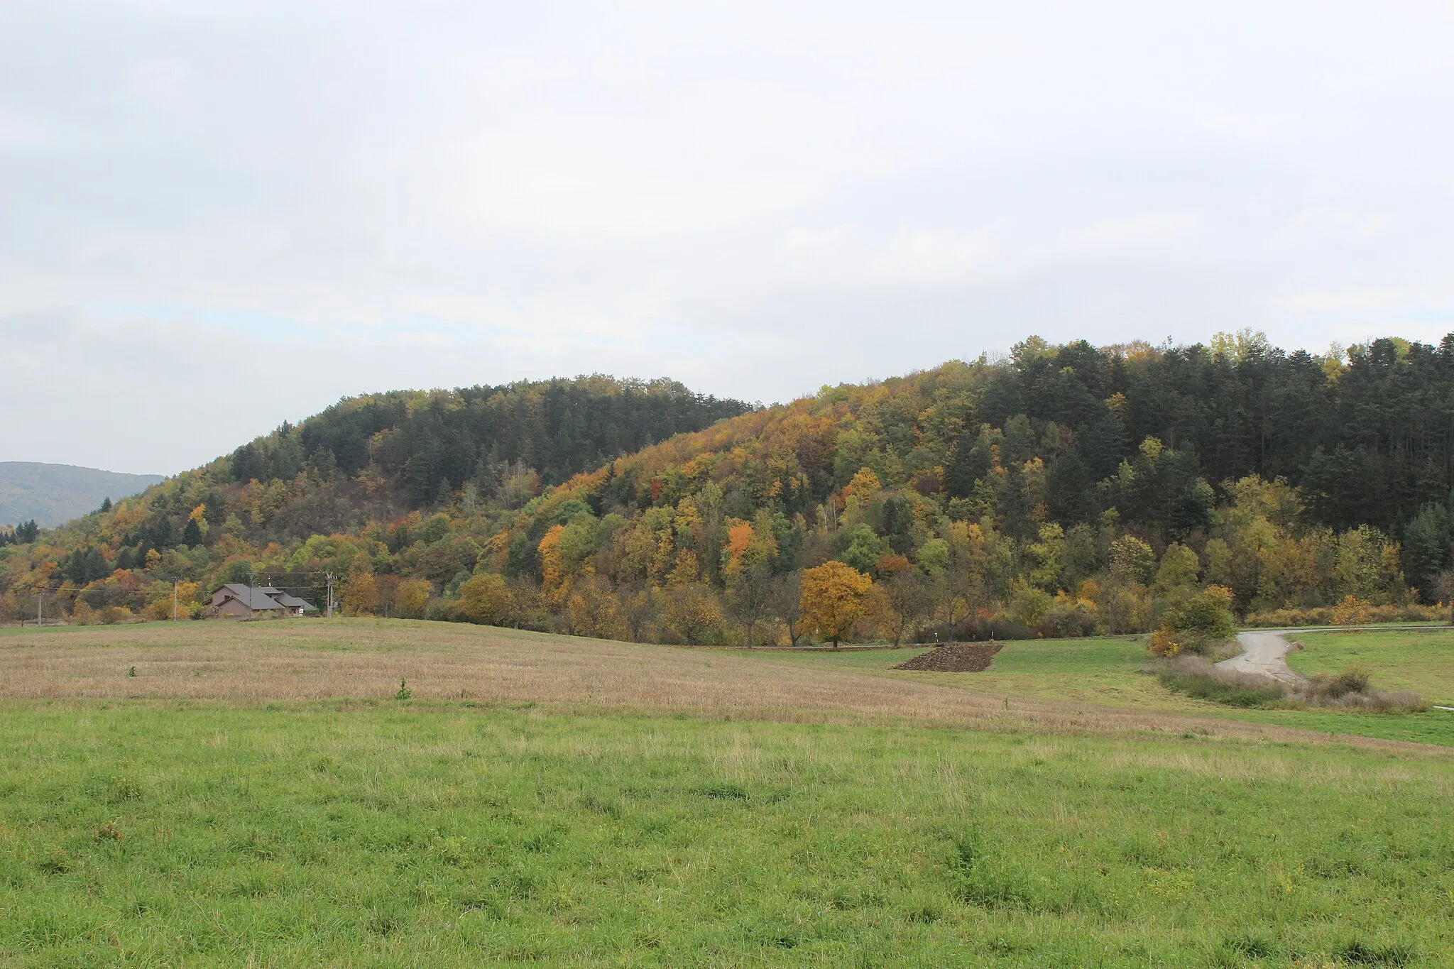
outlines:
[[[1448,400],[1454,336],[1316,357],[1249,333],[1031,338],[753,411],[609,378],[384,394],[0,551],[0,591],[160,616],[173,575],[321,601],[332,572],[349,613],[788,642],[832,638],[795,590],[840,562],[859,578],[814,575],[852,585],[846,638],[1144,631],[1189,601],[1432,616]]]

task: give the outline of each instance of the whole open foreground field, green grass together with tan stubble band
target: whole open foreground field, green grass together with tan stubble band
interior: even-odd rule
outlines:
[[[1454,965],[1447,751],[1095,706],[1134,644],[1034,645],[935,680],[430,623],[0,635],[0,962]]]

